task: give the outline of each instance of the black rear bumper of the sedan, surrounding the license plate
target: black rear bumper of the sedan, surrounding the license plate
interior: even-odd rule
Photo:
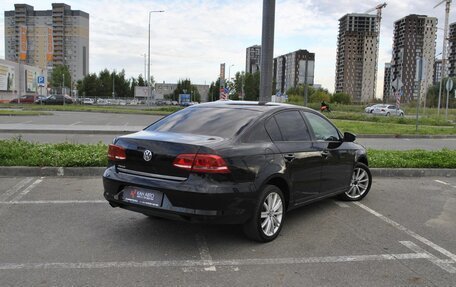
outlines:
[[[151,179],[119,173],[114,166],[104,172],[103,186],[103,195],[113,207],[188,222],[244,223],[250,218],[257,197],[251,183],[204,183],[204,179],[197,175],[182,182]],[[125,201],[123,189],[126,186],[162,193],[160,206]]]

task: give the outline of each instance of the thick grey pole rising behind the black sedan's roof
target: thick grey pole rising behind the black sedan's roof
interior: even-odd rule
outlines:
[[[275,0],[263,0],[263,31],[261,38],[260,103],[271,101],[272,58],[274,56]]]

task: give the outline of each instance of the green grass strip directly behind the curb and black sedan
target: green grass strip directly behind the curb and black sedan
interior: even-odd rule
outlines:
[[[107,145],[40,144],[20,138],[0,140],[0,166],[89,167],[107,165]],[[370,167],[456,168],[456,150],[369,150]]]

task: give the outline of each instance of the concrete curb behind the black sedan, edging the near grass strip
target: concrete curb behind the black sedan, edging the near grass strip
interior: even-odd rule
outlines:
[[[0,167],[6,176],[102,176],[105,167]],[[456,169],[449,168],[371,168],[374,177],[456,177]]]

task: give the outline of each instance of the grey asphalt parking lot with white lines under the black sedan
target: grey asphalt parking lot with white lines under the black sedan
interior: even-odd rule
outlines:
[[[111,208],[99,177],[0,178],[0,286],[455,286],[456,178],[374,178],[277,240]]]

